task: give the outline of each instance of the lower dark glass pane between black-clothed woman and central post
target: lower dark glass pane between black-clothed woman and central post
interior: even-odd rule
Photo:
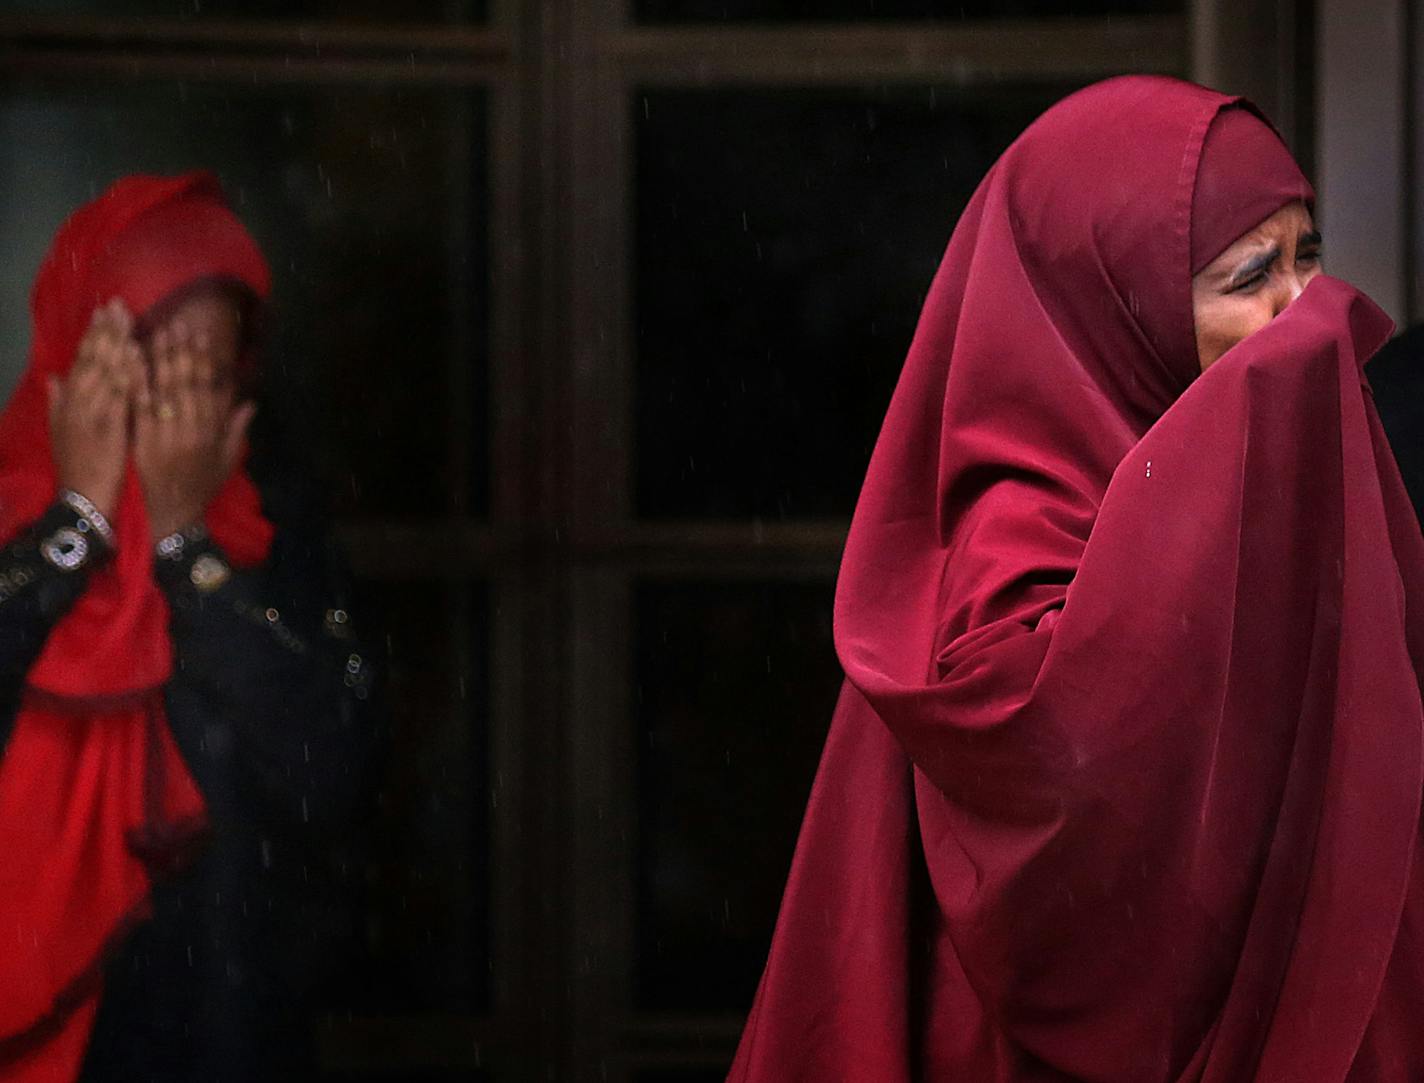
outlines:
[[[484,1010],[490,988],[483,586],[369,583],[390,737],[367,831],[360,948],[320,1000],[345,1016]]]

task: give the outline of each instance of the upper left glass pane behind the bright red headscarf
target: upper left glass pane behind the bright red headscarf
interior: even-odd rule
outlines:
[[[483,514],[484,98],[400,87],[11,85],[0,366],[54,229],[128,172],[215,169],[272,265],[263,410],[336,511]]]

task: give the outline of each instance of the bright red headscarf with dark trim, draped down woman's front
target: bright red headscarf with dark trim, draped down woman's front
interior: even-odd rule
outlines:
[[[61,228],[31,295],[30,363],[0,416],[0,541],[53,502],[46,379],[64,376],[90,315],[121,297],[135,316],[199,282],[269,292],[262,253],[209,174],[128,176]],[[272,528],[244,471],[208,528],[236,564]],[[0,759],[0,1076],[78,1073],[103,952],[142,916],[150,878],[191,850],[202,797],[174,744],[162,686],[168,608],[152,576],[142,491],[130,468],[118,551],[93,574],[27,676]]]

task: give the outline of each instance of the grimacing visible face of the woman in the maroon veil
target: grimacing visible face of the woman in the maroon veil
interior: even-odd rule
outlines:
[[[1196,359],[1205,373],[1232,346],[1284,312],[1320,273],[1320,233],[1304,204],[1287,204],[1192,276]]]

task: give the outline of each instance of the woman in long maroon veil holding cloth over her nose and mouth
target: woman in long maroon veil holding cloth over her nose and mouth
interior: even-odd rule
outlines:
[[[733,1080],[1424,1079],[1424,541],[1312,201],[1136,77],[980,185]]]

